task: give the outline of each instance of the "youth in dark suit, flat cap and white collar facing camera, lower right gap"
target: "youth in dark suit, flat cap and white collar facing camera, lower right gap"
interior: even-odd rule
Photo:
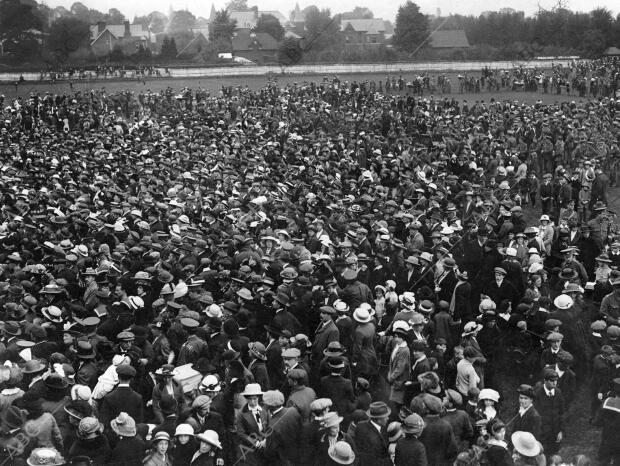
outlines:
[[[563,437],[565,404],[562,391],[557,387],[558,378],[554,369],[545,369],[544,382],[534,390],[534,406],[541,418],[541,434],[537,440],[548,458],[559,451]]]

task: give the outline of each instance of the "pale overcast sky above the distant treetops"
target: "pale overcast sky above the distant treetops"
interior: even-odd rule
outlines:
[[[75,0],[44,0],[49,7],[62,5],[69,8]],[[151,11],[158,10],[168,14],[170,6],[175,10],[188,9],[196,16],[208,17],[213,4],[216,9],[223,8],[227,0],[131,0],[121,2],[119,0],[81,0],[89,8],[107,12],[110,8],[118,8],[128,19],[133,19],[134,15],[145,15]],[[423,13],[436,14],[437,9],[441,10],[442,15],[450,13],[463,15],[478,15],[483,11],[498,10],[500,8],[514,8],[524,11],[526,15],[531,15],[538,10],[539,5],[545,9],[551,9],[557,4],[558,0],[417,0]],[[301,9],[308,5],[316,5],[319,8],[330,8],[332,13],[342,13],[352,10],[355,6],[370,8],[375,18],[383,18],[394,21],[398,6],[405,3],[405,0],[302,0],[299,2]],[[290,10],[294,8],[294,0],[249,0],[250,6],[257,5],[261,10],[279,10],[288,18]],[[620,2],[618,0],[566,0],[564,4],[572,10],[591,11],[597,7],[605,7],[611,10],[614,16],[620,13]],[[336,5],[336,6],[335,6]]]

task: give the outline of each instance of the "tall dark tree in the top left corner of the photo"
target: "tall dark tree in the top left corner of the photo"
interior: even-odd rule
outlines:
[[[36,42],[35,30],[43,23],[32,5],[20,0],[0,0],[0,51],[19,56],[32,53]]]

